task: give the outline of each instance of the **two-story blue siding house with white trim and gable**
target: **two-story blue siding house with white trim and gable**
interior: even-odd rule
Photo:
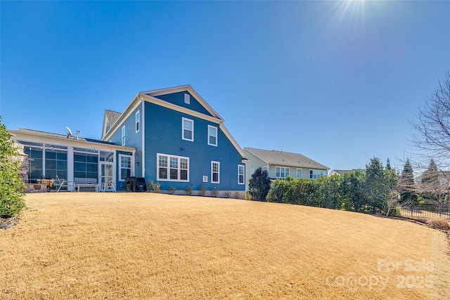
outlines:
[[[136,176],[178,194],[190,187],[198,195],[204,187],[244,197],[248,158],[224,119],[189,85],[137,93],[122,113],[105,110],[101,139],[136,149],[134,156],[119,155],[118,190]]]

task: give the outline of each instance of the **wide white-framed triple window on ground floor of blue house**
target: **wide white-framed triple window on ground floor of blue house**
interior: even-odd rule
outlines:
[[[189,181],[189,157],[157,154],[158,181]]]

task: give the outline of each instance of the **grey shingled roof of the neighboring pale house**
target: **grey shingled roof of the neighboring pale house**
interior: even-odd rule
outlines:
[[[267,164],[309,169],[330,169],[323,164],[319,164],[319,162],[310,159],[309,157],[297,153],[283,152],[278,150],[262,150],[247,147],[244,148],[244,152],[245,150],[252,153],[253,155],[256,155]]]

